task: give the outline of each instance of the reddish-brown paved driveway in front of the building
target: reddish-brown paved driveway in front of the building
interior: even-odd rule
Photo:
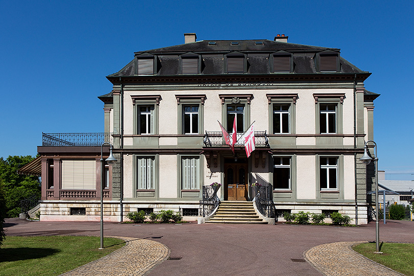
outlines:
[[[94,235],[99,222],[6,220],[6,235]],[[148,275],[322,275],[303,259],[315,245],[338,241],[375,241],[375,223],[359,227],[232,224],[105,223],[105,236],[147,238],[171,249],[170,257]],[[414,222],[380,224],[381,241],[414,243]],[[97,245],[99,246],[99,245]]]

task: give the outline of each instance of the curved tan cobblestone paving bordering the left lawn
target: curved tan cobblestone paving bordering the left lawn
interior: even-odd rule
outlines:
[[[90,262],[61,276],[137,276],[144,275],[170,254],[162,243],[137,238],[113,237],[126,241],[126,245],[111,254]]]

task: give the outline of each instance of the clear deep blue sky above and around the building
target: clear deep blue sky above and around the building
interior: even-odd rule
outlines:
[[[414,179],[414,2],[379,2],[0,0],[0,156],[35,155],[42,132],[103,132],[97,96],[134,51],[286,34],[373,73],[379,169]]]

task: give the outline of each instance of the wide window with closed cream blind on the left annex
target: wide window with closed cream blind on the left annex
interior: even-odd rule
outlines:
[[[62,160],[62,190],[96,190],[95,159]]]

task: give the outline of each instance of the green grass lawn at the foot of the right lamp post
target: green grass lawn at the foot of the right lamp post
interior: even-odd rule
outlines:
[[[407,276],[414,276],[414,244],[412,243],[383,243],[380,251],[375,254],[375,243],[362,243],[352,247],[359,254],[377,263],[385,265]]]

